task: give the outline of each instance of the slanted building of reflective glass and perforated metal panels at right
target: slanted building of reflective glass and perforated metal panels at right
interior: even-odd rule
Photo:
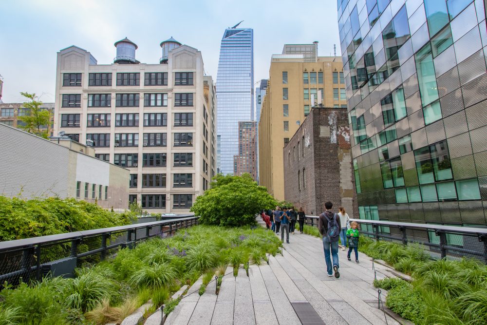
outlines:
[[[343,0],[338,17],[360,218],[485,226],[484,1]]]

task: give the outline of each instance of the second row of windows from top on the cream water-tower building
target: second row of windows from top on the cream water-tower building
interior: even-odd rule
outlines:
[[[115,107],[139,107],[139,93],[116,94]],[[111,107],[112,94],[89,94],[88,107]],[[168,106],[168,94],[144,94],[144,107]],[[174,106],[193,106],[192,93],[174,94]],[[64,94],[62,107],[81,107],[81,94]],[[13,115],[12,115],[13,116]]]

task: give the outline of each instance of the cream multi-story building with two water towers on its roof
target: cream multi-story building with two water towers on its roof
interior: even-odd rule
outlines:
[[[128,168],[128,199],[144,210],[186,213],[216,172],[214,86],[201,53],[171,38],[160,64],[145,64],[129,39],[115,46],[112,64],[76,46],[58,52],[55,133]]]

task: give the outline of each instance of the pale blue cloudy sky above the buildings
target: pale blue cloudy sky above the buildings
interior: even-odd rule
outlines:
[[[269,75],[272,54],[284,44],[312,43],[333,55],[340,43],[336,0],[0,0],[0,75],[4,103],[20,92],[54,102],[56,52],[71,45],[99,64],[115,57],[113,43],[128,37],[136,59],[158,63],[160,42],[174,37],[201,51],[206,75],[216,81],[225,28],[254,29],[254,81]]]

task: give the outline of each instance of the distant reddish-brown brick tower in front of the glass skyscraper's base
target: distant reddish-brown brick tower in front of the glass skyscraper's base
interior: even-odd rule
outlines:
[[[239,154],[233,156],[233,173],[244,172],[257,181],[257,124],[255,121],[239,121]]]

